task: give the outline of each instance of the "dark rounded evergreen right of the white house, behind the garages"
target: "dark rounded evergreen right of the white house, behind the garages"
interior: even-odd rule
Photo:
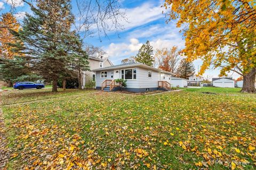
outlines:
[[[191,75],[195,74],[195,67],[193,63],[187,62],[186,58],[183,58],[178,66],[176,76],[183,79],[188,79]]]

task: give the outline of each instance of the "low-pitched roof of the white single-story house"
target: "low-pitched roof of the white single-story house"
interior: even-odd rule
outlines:
[[[113,65],[113,66],[109,66],[109,67],[103,67],[103,68],[100,68],[100,69],[95,69],[95,70],[92,70],[92,71],[97,72],[97,71],[107,71],[107,70],[113,70],[113,69],[126,69],[126,68],[129,68],[129,67],[142,67],[144,69],[149,69],[149,70],[153,70],[153,71],[157,71],[157,72],[161,72],[161,73],[165,73],[165,74],[174,75],[174,73],[163,71],[163,70],[160,70],[160,69],[156,69],[154,67],[151,67],[151,66],[148,66],[148,65],[145,65],[145,64],[141,64],[141,63],[137,63],[137,62],[130,62],[130,63],[124,63],[124,64],[119,64],[119,65]]]

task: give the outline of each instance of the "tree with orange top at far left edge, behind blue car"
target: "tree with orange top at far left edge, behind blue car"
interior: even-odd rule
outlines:
[[[11,13],[3,13],[0,19],[0,80],[8,82],[12,87],[12,82],[21,75],[27,74],[26,62],[23,55],[18,54],[10,44],[16,44],[22,48],[22,42],[14,37],[12,31],[18,31],[20,25]],[[21,57],[17,57],[21,56]]]

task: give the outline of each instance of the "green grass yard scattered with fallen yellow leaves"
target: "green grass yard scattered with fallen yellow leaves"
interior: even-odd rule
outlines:
[[[6,166],[255,169],[256,95],[236,90],[186,89],[154,96],[2,92],[1,132],[11,155]],[[27,101],[35,102],[12,105]]]

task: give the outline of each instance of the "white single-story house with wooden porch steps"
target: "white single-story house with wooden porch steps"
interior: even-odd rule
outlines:
[[[125,90],[132,92],[170,89],[171,76],[174,75],[171,72],[137,62],[103,67],[92,71],[96,72],[96,88],[105,91],[119,89],[119,84],[115,82],[116,79],[127,80]]]

